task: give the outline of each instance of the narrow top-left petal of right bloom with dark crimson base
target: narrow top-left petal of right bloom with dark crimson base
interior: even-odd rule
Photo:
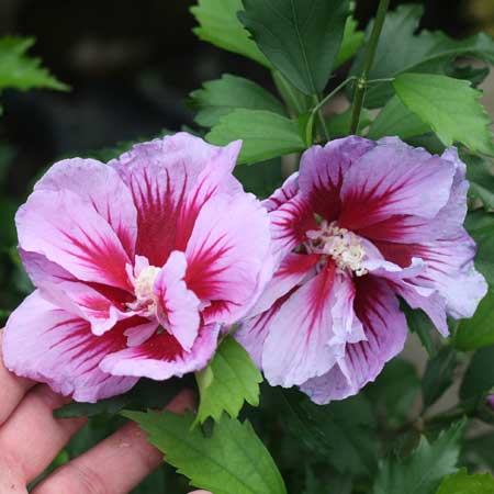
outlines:
[[[351,165],[375,143],[363,137],[335,139],[326,146],[312,146],[301,158],[300,190],[312,210],[327,222],[338,218],[344,176]]]

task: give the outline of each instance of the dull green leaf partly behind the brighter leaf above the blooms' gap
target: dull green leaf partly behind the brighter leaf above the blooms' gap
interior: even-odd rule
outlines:
[[[221,79],[204,82],[203,88],[190,96],[199,110],[194,120],[204,127],[212,127],[237,108],[285,114],[283,105],[271,93],[243,77],[225,74]]]

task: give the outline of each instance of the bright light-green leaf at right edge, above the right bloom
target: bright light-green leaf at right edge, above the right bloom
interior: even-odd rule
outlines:
[[[405,106],[430,125],[446,146],[460,142],[474,151],[494,153],[492,120],[478,101],[482,93],[469,81],[403,74],[393,86]]]

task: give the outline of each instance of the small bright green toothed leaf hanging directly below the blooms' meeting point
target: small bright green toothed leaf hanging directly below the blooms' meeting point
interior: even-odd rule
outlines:
[[[216,350],[213,360],[197,373],[201,403],[198,422],[207,417],[218,422],[223,412],[236,418],[244,401],[259,405],[259,383],[262,375],[248,352],[233,337],[226,337]]]

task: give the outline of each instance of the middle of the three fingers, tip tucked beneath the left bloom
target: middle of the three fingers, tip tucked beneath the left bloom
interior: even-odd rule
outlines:
[[[86,418],[56,419],[53,411],[68,400],[46,385],[26,394],[0,428],[0,463],[26,483],[42,473],[86,423]]]

